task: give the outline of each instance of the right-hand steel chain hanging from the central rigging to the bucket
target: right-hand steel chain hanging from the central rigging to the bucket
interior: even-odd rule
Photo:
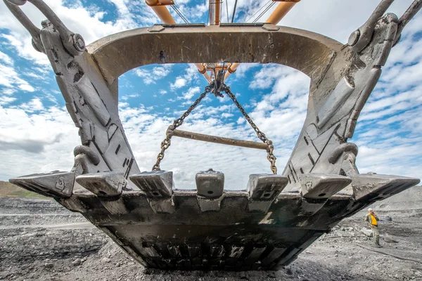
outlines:
[[[242,112],[243,117],[245,117],[246,121],[248,121],[248,123],[250,124],[252,129],[254,129],[255,132],[257,133],[258,138],[260,138],[260,140],[262,142],[264,142],[268,145],[267,159],[270,163],[270,169],[273,172],[273,174],[277,174],[277,167],[276,167],[276,159],[277,158],[273,153],[274,152],[274,145],[273,145],[272,141],[269,140],[267,138],[267,136],[265,136],[265,133],[262,133],[262,131],[260,131],[258,126],[255,125],[255,123],[252,121],[252,119],[250,119],[248,113],[245,112],[242,105],[238,102],[236,96],[234,96],[234,94],[231,93],[230,87],[227,86],[226,84],[223,84],[220,89],[222,91],[224,91],[224,93],[226,93],[227,96],[229,96],[229,98],[231,98],[231,100],[233,100],[234,104],[238,107],[238,110],[240,110]]]

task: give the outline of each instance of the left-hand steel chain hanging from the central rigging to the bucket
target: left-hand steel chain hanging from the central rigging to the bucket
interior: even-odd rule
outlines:
[[[195,109],[196,105],[198,105],[200,103],[201,100],[203,100],[203,98],[205,98],[205,96],[207,96],[207,93],[210,93],[211,91],[211,86],[208,85],[205,87],[205,91],[203,93],[200,94],[199,98],[197,98],[195,100],[195,103],[193,103],[193,105],[191,105],[188,110],[186,110],[186,112],[184,112],[183,115],[181,115],[181,117],[179,117],[178,119],[175,119],[173,121],[173,124],[171,124],[166,131],[166,137],[164,139],[164,141],[161,142],[160,148],[161,151],[160,153],[158,153],[157,155],[157,161],[155,162],[154,166],[153,166],[153,171],[160,171],[160,162],[161,160],[164,158],[164,152],[165,150],[167,150],[167,148],[170,147],[170,145],[172,144],[172,136],[173,136],[173,132],[174,130],[181,126],[181,124],[183,124],[184,119],[186,117],[188,117],[189,114],[191,114],[192,110]]]

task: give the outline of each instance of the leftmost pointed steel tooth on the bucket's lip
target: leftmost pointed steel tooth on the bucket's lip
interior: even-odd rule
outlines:
[[[26,190],[49,197],[70,197],[75,184],[75,174],[67,171],[52,171],[46,174],[31,174],[9,180]]]

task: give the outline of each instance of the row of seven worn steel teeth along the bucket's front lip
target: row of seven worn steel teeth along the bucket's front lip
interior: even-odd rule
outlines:
[[[130,181],[140,188],[156,213],[173,213],[172,200],[174,183],[172,171],[144,171],[129,176]],[[357,202],[382,200],[419,183],[416,178],[378,174],[357,174],[352,176],[328,174],[301,174],[301,214],[309,216],[324,206],[328,198],[346,187],[352,190],[350,196]],[[71,197],[75,181],[94,193],[104,207],[112,214],[125,214],[127,209],[120,198],[128,181],[122,174],[110,171],[77,176],[72,172],[53,171],[47,174],[32,174],[12,178],[11,183],[50,197]],[[274,174],[252,174],[247,193],[249,211],[268,211],[272,202],[288,184],[286,176]],[[200,171],[196,174],[198,205],[201,211],[219,211],[224,198],[224,174],[219,171]],[[81,208],[83,209],[83,208]]]

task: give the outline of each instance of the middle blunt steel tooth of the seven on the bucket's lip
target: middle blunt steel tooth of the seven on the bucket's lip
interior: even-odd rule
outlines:
[[[208,169],[196,174],[196,189],[198,195],[208,198],[216,198],[224,192],[224,174],[221,171]]]

